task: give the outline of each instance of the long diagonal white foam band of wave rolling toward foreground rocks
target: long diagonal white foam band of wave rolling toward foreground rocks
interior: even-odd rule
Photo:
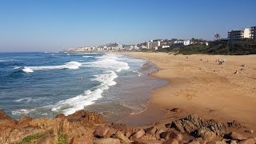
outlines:
[[[95,75],[95,77],[92,80],[102,82],[100,86],[95,87],[94,90],[85,90],[83,94],[79,94],[74,98],[62,100],[56,103],[51,110],[68,115],[84,109],[85,106],[94,104],[95,100],[102,98],[104,90],[108,90],[109,86],[116,84],[114,78],[117,78],[118,75],[113,70],[108,70],[103,74]]]

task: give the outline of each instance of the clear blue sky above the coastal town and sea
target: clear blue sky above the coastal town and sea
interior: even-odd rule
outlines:
[[[156,38],[226,38],[255,26],[255,0],[0,0],[0,51]]]

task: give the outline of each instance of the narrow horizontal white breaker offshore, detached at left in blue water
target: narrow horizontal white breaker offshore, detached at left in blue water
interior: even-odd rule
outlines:
[[[70,69],[70,70],[76,70],[79,69],[79,67],[82,66],[82,63],[80,62],[66,62],[65,65],[60,66],[24,66],[22,71],[25,73],[32,73],[34,70],[58,70],[58,69]]]

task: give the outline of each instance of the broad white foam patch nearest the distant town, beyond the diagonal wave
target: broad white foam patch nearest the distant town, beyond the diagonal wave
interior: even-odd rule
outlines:
[[[120,60],[120,58],[118,58],[118,55],[116,54],[105,54],[102,57],[99,57],[98,61],[86,62],[84,63],[85,64],[84,66],[106,68],[106,69],[114,70],[117,72],[120,72],[121,70],[130,69],[130,66],[128,66],[128,63],[121,62],[118,60]]]

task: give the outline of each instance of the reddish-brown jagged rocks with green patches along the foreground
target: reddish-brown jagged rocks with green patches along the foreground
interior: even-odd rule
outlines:
[[[108,123],[102,114],[80,110],[55,118],[30,118],[22,116],[18,121],[0,110],[0,143],[255,143],[254,138],[230,132],[228,129],[245,128],[239,122],[227,124],[189,115],[169,123],[148,128],[134,128],[125,124]],[[247,130],[247,131],[246,131]],[[245,129],[245,134],[254,130]]]

